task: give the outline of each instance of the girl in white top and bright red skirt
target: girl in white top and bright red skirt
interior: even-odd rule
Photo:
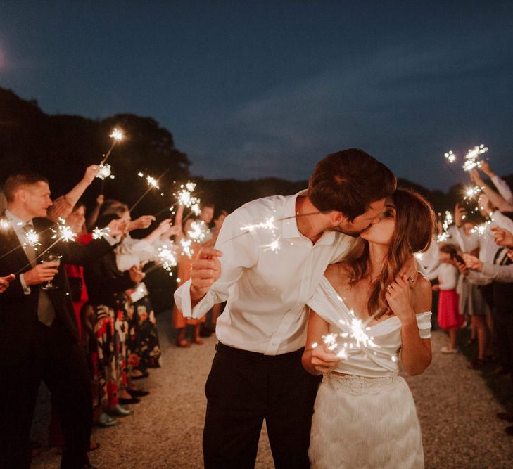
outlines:
[[[458,269],[451,255],[456,252],[455,245],[441,245],[440,267],[438,268],[438,285],[433,289],[438,290],[438,326],[449,331],[450,344],[444,345],[440,351],[443,354],[457,352],[457,330],[463,325],[463,316],[460,314],[460,299],[456,293],[458,281]]]

